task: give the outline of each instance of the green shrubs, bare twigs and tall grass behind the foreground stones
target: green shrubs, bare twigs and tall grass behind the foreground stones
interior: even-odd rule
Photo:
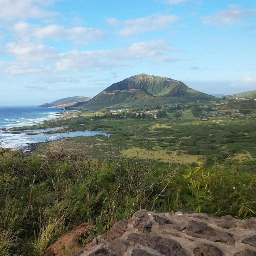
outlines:
[[[255,216],[256,177],[236,161],[156,165],[148,152],[122,159],[112,147],[103,162],[63,144],[41,156],[0,149],[0,256],[44,255],[63,232],[90,221],[88,242],[144,208]]]

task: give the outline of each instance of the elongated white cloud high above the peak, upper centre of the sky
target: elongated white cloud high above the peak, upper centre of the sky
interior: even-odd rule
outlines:
[[[175,15],[153,14],[143,18],[125,20],[123,22],[115,18],[105,19],[111,26],[125,26],[118,34],[121,36],[130,36],[163,29],[169,24],[176,22],[179,17]]]

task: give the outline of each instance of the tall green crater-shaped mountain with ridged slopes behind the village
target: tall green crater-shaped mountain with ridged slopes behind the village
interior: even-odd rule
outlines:
[[[167,104],[214,98],[212,95],[187,87],[181,81],[167,77],[138,74],[118,83],[113,83],[79,107],[93,109],[109,106]]]

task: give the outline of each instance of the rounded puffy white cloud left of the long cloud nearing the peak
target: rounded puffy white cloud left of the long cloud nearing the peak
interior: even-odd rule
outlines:
[[[22,61],[45,61],[58,57],[54,47],[37,45],[32,42],[20,44],[17,42],[9,42],[6,44],[5,49],[8,54]]]

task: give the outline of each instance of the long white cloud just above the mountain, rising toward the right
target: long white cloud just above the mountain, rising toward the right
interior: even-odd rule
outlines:
[[[113,50],[72,50],[59,54],[61,60],[56,63],[56,71],[110,70],[116,67],[127,66],[129,61],[171,62],[178,60],[170,57],[170,52],[173,51],[180,51],[180,49],[174,49],[163,40],[138,42],[127,48],[116,48]]]

